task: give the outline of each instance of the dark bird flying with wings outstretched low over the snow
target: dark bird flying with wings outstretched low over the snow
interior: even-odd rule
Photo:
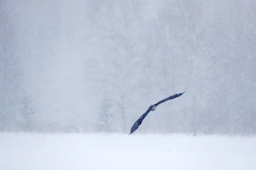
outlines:
[[[183,93],[185,93],[185,91]],[[172,96],[167,97],[166,99],[157,102],[154,105],[149,106],[148,110],[143,115],[141,115],[140,118],[131,127],[131,133],[134,133],[134,131],[138,129],[138,127],[141,125],[142,121],[145,119],[145,117],[148,115],[150,111],[155,111],[157,109],[157,105],[160,105],[161,103],[166,102],[168,100],[175,99],[176,97],[181,96],[183,93],[174,94]],[[131,135],[131,133],[129,135]]]

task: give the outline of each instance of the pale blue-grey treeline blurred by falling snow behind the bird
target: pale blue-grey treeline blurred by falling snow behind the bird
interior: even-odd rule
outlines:
[[[0,130],[256,133],[256,1],[1,0]]]

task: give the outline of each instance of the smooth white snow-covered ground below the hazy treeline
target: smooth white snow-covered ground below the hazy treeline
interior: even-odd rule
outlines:
[[[256,136],[0,133],[0,170],[256,170]]]

